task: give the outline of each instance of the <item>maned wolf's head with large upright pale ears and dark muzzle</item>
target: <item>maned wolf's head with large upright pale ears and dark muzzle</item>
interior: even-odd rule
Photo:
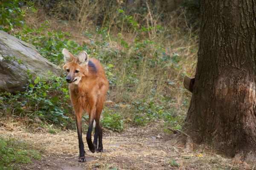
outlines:
[[[64,71],[67,74],[66,80],[68,83],[79,84],[82,77],[88,74],[88,55],[85,51],[81,51],[77,57],[74,57],[67,49],[62,50],[64,55],[65,65]]]

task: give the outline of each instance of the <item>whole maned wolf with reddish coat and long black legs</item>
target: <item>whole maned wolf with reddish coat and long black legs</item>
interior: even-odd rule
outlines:
[[[62,50],[65,65],[63,69],[67,74],[69,83],[70,99],[75,110],[76,127],[79,141],[79,161],[84,162],[84,143],[82,140],[82,114],[83,110],[89,114],[89,126],[86,136],[88,147],[92,153],[102,152],[102,127],[99,119],[102,112],[108,80],[106,79],[102,65],[97,59],[88,59],[85,51],[81,51],[74,57],[67,49]],[[95,120],[95,133],[92,142],[93,121]],[[99,137],[99,146],[97,142]]]

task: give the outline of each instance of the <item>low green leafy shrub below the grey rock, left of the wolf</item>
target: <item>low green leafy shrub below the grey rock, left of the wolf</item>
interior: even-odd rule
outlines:
[[[26,91],[17,94],[0,94],[0,108],[6,113],[19,117],[35,118],[61,126],[70,125],[73,119],[68,117],[72,112],[69,104],[68,87],[65,79],[55,77],[37,77],[31,82],[32,75],[28,71],[29,85]],[[9,107],[7,107],[9,106]]]

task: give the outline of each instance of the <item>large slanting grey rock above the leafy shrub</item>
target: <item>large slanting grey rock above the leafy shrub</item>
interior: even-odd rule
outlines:
[[[24,91],[29,82],[28,70],[32,80],[47,77],[48,71],[61,75],[61,69],[41,56],[33,45],[0,31],[0,92]]]

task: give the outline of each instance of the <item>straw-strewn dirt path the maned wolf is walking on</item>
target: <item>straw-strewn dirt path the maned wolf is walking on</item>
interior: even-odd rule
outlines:
[[[41,150],[43,159],[22,165],[24,170],[240,170],[245,166],[208,150],[188,152],[178,144],[177,137],[163,133],[156,125],[130,127],[122,133],[105,131],[104,152],[90,153],[85,144],[87,162],[83,163],[77,159],[76,132],[29,133],[15,123],[8,123],[0,127],[0,134],[26,140],[32,147]],[[85,142],[85,136],[83,139]]]

